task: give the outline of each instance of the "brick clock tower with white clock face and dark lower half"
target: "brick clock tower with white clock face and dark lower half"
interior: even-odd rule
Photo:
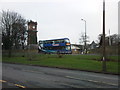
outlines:
[[[37,22],[28,22],[28,45],[37,44]]]

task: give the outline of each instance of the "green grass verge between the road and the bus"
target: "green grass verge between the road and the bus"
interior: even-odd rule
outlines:
[[[32,58],[31,60],[29,60],[28,57],[21,56],[15,56],[12,58],[3,57],[3,62],[62,67],[99,72],[102,71],[102,62],[99,61],[101,56],[97,55],[64,55],[62,58],[58,58],[57,55],[44,54],[31,54],[30,56]],[[116,57],[112,57],[112,59],[115,58]],[[118,62],[108,61],[106,65],[107,72],[118,73]]]

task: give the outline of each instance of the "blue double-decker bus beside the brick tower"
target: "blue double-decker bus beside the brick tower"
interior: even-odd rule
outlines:
[[[68,38],[52,39],[52,40],[40,40],[38,52],[42,53],[59,53],[59,54],[71,54],[71,44]]]

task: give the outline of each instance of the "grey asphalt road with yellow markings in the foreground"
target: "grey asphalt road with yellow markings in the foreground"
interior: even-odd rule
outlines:
[[[2,64],[3,88],[118,88],[118,76],[18,64]]]

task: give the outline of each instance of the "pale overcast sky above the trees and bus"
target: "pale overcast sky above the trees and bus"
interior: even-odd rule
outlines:
[[[27,20],[37,21],[38,40],[69,38],[79,43],[85,31],[90,42],[102,33],[103,0],[1,0],[1,10],[18,12]],[[106,34],[118,33],[118,1],[106,0]]]

